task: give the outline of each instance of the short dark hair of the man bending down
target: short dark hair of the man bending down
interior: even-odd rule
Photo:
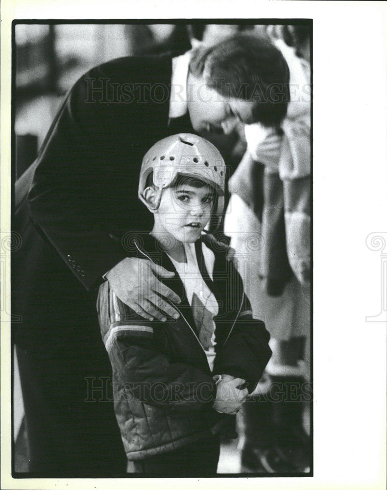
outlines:
[[[214,46],[193,50],[190,72],[225,97],[256,102],[253,115],[265,126],[278,126],[286,116],[289,67],[282,53],[268,40],[238,34]]]

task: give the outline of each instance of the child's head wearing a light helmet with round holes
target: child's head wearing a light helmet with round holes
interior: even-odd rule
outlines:
[[[218,149],[204,138],[169,136],[144,156],[139,198],[155,215],[158,231],[191,243],[223,209],[225,172]]]

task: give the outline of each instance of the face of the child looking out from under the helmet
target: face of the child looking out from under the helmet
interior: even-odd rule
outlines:
[[[172,235],[182,243],[193,243],[210,220],[215,191],[207,184],[194,187],[189,183],[163,190],[160,206],[154,215],[155,226],[162,238]]]

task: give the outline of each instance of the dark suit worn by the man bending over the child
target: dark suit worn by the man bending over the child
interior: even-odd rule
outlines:
[[[85,401],[93,393],[98,399],[100,378],[111,376],[95,289],[130,255],[123,234],[150,229],[151,215],[137,197],[145,152],[170,134],[192,132],[168,126],[170,80],[169,55],[120,58],[82,76],[52,123],[29,195],[15,209],[13,229],[23,242],[12,257],[13,313],[22,321],[13,334],[23,350],[31,467],[39,471],[103,473],[122,451],[113,404]]]

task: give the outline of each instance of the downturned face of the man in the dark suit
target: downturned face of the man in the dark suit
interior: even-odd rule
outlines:
[[[194,130],[198,133],[229,134],[238,123],[255,122],[255,102],[226,97],[205,84],[204,76],[188,76],[188,112]]]

